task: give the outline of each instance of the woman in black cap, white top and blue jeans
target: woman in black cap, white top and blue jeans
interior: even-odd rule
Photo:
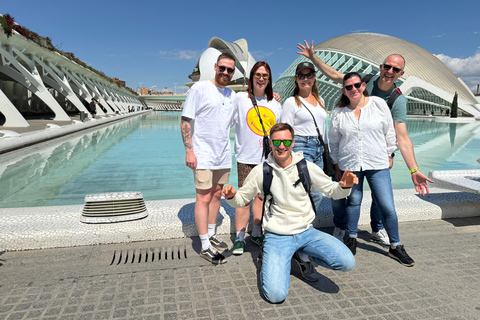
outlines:
[[[325,103],[318,94],[315,67],[310,62],[301,62],[295,71],[295,89],[293,96],[285,100],[282,111],[282,123],[291,125],[295,132],[293,151],[302,151],[303,157],[323,169],[323,151],[328,148],[325,123],[327,112]],[[318,137],[322,135],[324,144]],[[322,201],[322,193],[312,191],[313,203],[317,210]],[[294,255],[302,276],[309,281],[316,281],[320,275],[315,271],[307,255]]]

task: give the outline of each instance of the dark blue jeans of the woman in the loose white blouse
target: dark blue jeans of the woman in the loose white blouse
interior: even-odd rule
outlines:
[[[335,227],[347,230],[352,238],[357,237],[360,205],[363,198],[363,180],[367,178],[372,191],[372,198],[381,212],[390,243],[393,246],[399,245],[398,218],[393,201],[390,170],[366,170],[354,171],[353,173],[358,177],[358,184],[353,185],[350,195],[346,199],[332,200]]]

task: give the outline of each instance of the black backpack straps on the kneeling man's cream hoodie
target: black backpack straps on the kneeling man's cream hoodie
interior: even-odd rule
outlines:
[[[302,183],[303,188],[308,193],[308,197],[310,198],[310,202],[312,203],[313,212],[317,214],[317,210],[315,208],[315,204],[313,203],[312,194],[310,192],[312,188],[312,180],[310,179],[310,173],[308,172],[307,168],[307,160],[302,159],[297,163],[297,170],[298,170],[298,180],[294,183],[296,187],[299,183]],[[270,206],[272,204],[273,195],[270,192],[270,187],[272,185],[273,180],[273,168],[267,164],[266,161],[263,162],[263,208],[262,208],[262,222],[260,225],[263,224],[263,215],[265,214],[265,206]]]

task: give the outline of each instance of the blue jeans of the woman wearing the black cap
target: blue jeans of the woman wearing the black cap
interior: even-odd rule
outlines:
[[[323,170],[323,150],[324,146],[320,143],[318,137],[294,136],[295,145],[293,151],[303,151],[303,157],[315,163]],[[322,193],[317,189],[312,190],[312,199],[315,209],[318,211],[322,202]]]

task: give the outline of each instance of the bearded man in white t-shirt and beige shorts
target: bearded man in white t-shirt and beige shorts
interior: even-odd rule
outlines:
[[[216,224],[222,188],[232,167],[230,128],[235,92],[226,86],[235,72],[235,58],[222,53],[214,68],[214,79],[197,82],[189,90],[180,127],[185,162],[194,176],[195,222],[202,243],[200,256],[213,264],[222,264],[226,260],[221,252],[228,245],[217,237]]]

